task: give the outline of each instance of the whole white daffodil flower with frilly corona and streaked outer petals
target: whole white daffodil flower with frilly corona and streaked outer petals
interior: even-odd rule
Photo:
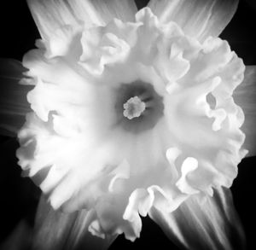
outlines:
[[[22,61],[31,111],[15,108],[19,165],[44,193],[33,246],[135,241],[149,215],[182,248],[242,249],[229,188],[254,153],[255,71],[218,38],[238,1],[27,2],[41,39]]]

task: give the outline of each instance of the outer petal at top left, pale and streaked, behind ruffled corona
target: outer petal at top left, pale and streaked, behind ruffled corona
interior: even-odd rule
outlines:
[[[61,26],[102,26],[113,18],[134,20],[133,0],[28,0],[42,38],[48,40]]]

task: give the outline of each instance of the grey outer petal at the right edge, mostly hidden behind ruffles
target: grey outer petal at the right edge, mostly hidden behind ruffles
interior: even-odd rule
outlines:
[[[256,155],[256,66],[247,66],[243,82],[234,91],[234,100],[245,115],[241,131],[246,134],[244,148],[249,150],[247,156]]]

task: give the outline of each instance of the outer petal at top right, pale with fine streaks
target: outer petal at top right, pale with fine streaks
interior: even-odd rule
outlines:
[[[218,37],[236,12],[238,0],[150,0],[148,7],[160,22],[175,21],[183,31],[204,41]]]

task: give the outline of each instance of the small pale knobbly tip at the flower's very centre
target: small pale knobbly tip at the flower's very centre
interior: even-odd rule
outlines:
[[[128,119],[133,119],[135,117],[140,117],[143,111],[146,108],[145,102],[142,102],[141,99],[137,96],[131,97],[124,104],[124,116]]]

